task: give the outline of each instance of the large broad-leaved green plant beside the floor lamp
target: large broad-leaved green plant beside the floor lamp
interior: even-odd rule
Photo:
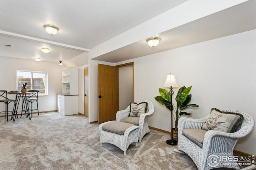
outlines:
[[[185,86],[181,87],[177,93],[177,96],[175,98],[177,105],[176,107],[173,106],[173,103],[171,101],[171,96],[168,93],[168,90],[159,88],[159,93],[161,96],[156,96],[155,99],[160,104],[164,105],[167,109],[172,111],[174,109],[173,117],[175,120],[175,128],[174,130],[178,130],[178,120],[180,119],[180,116],[182,115],[192,115],[192,113],[188,113],[183,111],[184,109],[187,109],[188,107],[199,107],[197,104],[189,104],[192,95],[189,94],[192,86],[186,88]],[[174,132],[176,133],[176,132]],[[175,136],[175,135],[174,135]]]

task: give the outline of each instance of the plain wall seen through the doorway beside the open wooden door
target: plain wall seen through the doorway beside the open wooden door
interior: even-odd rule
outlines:
[[[133,66],[118,67],[119,74],[119,110],[126,109],[133,102]]]

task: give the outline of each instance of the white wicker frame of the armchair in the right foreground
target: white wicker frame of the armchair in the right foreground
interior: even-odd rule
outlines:
[[[222,110],[233,113],[240,113],[244,116],[242,124],[238,131],[234,133],[225,133],[220,131],[209,130],[204,135],[203,146],[199,147],[194,142],[190,141],[187,137],[182,135],[182,130],[188,129],[201,129],[202,125],[206,122],[209,115],[201,119],[190,119],[186,117],[180,118],[178,122],[178,150],[185,152],[192,158],[199,170],[209,170],[213,168],[234,168],[240,169],[238,165],[218,165],[211,167],[207,163],[207,158],[211,154],[217,156],[233,156],[233,150],[238,141],[238,138],[245,137],[252,131],[254,127],[253,118],[247,113],[240,111]]]

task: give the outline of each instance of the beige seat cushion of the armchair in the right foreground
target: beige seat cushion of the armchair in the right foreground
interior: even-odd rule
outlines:
[[[203,147],[204,134],[206,130],[203,129],[182,129],[182,135],[186,136],[190,141],[196,143],[199,147]]]

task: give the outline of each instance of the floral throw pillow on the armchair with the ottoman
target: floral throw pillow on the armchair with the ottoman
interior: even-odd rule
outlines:
[[[142,113],[146,113],[148,107],[147,102],[137,103],[130,103],[130,115],[134,117],[140,117]]]

